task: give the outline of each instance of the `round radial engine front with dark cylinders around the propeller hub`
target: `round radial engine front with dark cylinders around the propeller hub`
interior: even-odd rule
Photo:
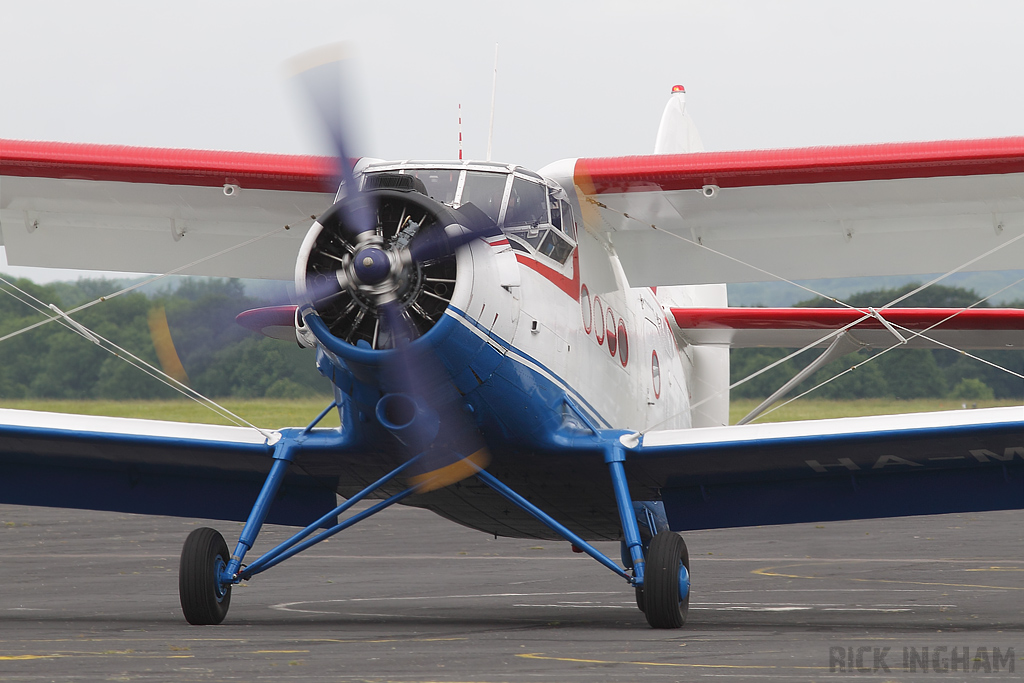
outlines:
[[[371,186],[335,204],[310,227],[295,285],[331,335],[364,349],[388,349],[395,342],[380,306],[397,301],[417,337],[429,332],[456,293],[450,237],[471,221],[417,191],[412,176],[379,174],[368,180]],[[366,224],[374,229],[353,229],[354,211],[368,212]]]

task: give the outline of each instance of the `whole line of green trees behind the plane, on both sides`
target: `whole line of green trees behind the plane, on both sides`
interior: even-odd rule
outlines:
[[[69,310],[118,291],[123,283],[80,280],[75,283],[14,284],[46,304]],[[857,307],[883,306],[916,289],[861,292],[847,299]],[[0,286],[8,294],[10,288]],[[25,298],[18,295],[19,298]],[[973,290],[933,286],[902,301],[900,306],[964,307],[978,301]],[[37,304],[38,305],[38,304]],[[214,397],[303,397],[330,394],[330,383],[315,371],[313,353],[240,327],[234,316],[248,308],[268,305],[249,297],[238,281],[184,280],[175,289],[156,294],[132,292],[91,306],[75,319],[159,367],[148,319],[152,311],[166,313],[171,339],[189,385]],[[798,306],[828,307],[824,299]],[[983,303],[981,306],[986,306]],[[1022,308],[1024,301],[1009,304]],[[52,312],[47,311],[47,315]],[[0,295],[0,337],[44,319],[13,296]],[[793,349],[733,349],[732,381],[784,357]],[[805,384],[809,388],[860,364],[877,350],[858,351],[836,360]],[[1017,373],[1024,373],[1024,351],[978,351],[977,355]],[[737,397],[763,398],[805,368],[816,352],[804,353],[732,390]],[[168,398],[173,389],[145,377],[80,335],[50,323],[0,342],[2,398]],[[949,350],[896,349],[825,384],[821,398],[955,397],[964,399],[1024,397],[1024,381],[991,366]]]

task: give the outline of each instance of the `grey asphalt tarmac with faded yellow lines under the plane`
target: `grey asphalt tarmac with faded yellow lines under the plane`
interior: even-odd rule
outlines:
[[[687,625],[654,631],[565,543],[396,506],[236,588],[223,625],[190,627],[178,553],[204,522],[0,506],[0,680],[1019,680],[1022,522],[690,532]],[[241,524],[210,525],[233,547]],[[265,529],[257,554],[289,531]]]

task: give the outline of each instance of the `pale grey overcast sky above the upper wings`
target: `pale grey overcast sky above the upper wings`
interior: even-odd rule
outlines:
[[[317,152],[287,58],[352,41],[383,158],[649,153],[671,86],[708,150],[1024,134],[1019,2],[0,0],[0,137]]]

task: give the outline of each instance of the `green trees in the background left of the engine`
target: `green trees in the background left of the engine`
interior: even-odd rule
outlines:
[[[13,282],[35,299],[70,310],[121,289],[109,280],[36,285]],[[0,286],[8,294],[11,289]],[[0,295],[0,337],[45,319],[18,294]],[[37,304],[38,305],[38,304]],[[73,316],[90,330],[160,367],[150,329],[163,308],[189,386],[208,396],[302,397],[330,394],[313,352],[250,332],[234,322],[243,310],[266,305],[246,296],[238,281],[186,280],[173,291],[131,292]],[[46,311],[46,316],[52,315]],[[0,342],[3,398],[169,398],[178,395],[79,334],[49,323]]]

